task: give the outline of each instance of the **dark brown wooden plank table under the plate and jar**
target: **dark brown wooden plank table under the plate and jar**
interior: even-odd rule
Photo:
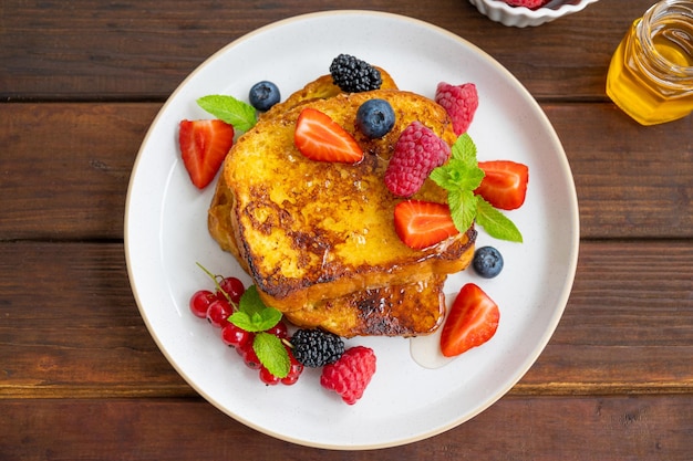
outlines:
[[[652,1],[514,29],[464,0],[3,0],[0,459],[690,460],[693,117],[642,127],[604,95]],[[214,408],[157,349],[125,268],[128,178],[168,95],[228,42],[325,9],[417,18],[497,59],[556,127],[580,203],[575,286],[536,365],[458,428],[375,451],[293,446]]]

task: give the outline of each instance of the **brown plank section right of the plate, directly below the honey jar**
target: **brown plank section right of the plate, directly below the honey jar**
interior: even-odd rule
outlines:
[[[693,117],[644,127],[613,105],[542,108],[570,161],[583,238],[691,238]]]

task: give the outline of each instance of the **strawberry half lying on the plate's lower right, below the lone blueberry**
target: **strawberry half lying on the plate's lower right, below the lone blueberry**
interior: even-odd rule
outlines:
[[[477,285],[467,283],[459,290],[443,325],[441,352],[454,357],[480,346],[496,334],[499,319],[498,305]]]

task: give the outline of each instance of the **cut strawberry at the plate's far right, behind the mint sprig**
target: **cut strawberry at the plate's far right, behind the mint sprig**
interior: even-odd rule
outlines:
[[[476,193],[501,210],[515,210],[525,202],[529,168],[510,160],[479,161],[486,176]]]

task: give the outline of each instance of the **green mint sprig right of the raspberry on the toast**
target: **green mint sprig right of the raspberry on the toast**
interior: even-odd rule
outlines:
[[[484,176],[476,159],[476,145],[466,133],[453,145],[447,164],[431,172],[431,179],[447,190],[447,205],[459,232],[466,232],[476,220],[495,239],[521,242],[523,235],[513,221],[474,193]]]

